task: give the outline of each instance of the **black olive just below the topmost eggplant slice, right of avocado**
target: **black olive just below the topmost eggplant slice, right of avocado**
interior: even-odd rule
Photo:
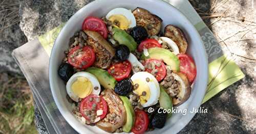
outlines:
[[[140,43],[142,40],[146,39],[148,34],[146,29],[143,26],[135,26],[131,30],[131,36],[137,43]]]

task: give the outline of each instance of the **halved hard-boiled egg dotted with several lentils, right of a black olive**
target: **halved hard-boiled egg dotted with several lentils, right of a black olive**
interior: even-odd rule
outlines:
[[[134,93],[139,95],[139,102],[143,107],[154,105],[160,96],[160,87],[157,79],[148,72],[137,72],[131,77],[134,84]]]

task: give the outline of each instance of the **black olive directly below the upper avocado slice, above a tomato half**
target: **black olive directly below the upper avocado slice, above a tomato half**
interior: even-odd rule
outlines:
[[[119,61],[125,61],[129,58],[130,50],[125,45],[118,45],[116,47],[116,58]]]

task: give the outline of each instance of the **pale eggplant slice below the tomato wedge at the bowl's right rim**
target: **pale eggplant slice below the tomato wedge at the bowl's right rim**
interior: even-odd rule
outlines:
[[[179,83],[179,93],[173,97],[173,105],[177,106],[185,102],[190,95],[190,85],[185,74],[181,72],[172,73],[174,79]]]

